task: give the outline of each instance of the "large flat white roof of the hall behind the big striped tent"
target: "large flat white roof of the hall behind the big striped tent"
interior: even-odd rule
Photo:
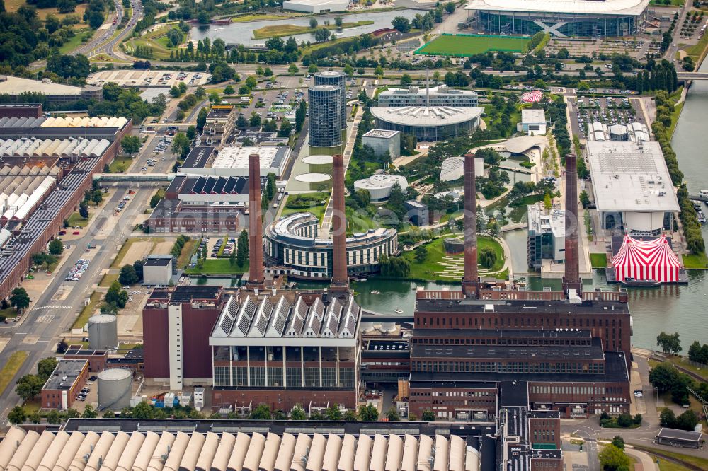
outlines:
[[[586,149],[598,210],[680,210],[658,142],[588,141]]]

